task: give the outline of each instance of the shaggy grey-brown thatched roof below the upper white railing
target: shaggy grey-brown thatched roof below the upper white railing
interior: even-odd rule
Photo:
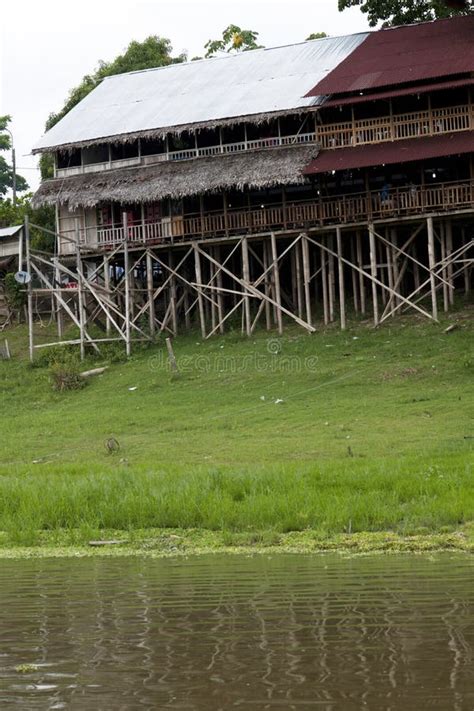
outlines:
[[[294,146],[47,180],[33,205],[67,204],[75,209],[102,202],[146,203],[232,188],[304,183],[304,168],[316,155],[314,146]]]

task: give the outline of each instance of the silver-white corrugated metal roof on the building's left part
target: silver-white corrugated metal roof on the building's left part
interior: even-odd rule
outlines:
[[[366,37],[331,37],[108,77],[34,150],[318,105],[318,97],[303,98],[306,92]]]

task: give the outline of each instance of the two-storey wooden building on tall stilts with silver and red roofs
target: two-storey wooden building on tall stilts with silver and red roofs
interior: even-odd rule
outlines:
[[[436,320],[471,289],[473,37],[463,16],[106,78],[34,149],[59,259],[119,338],[144,314]]]

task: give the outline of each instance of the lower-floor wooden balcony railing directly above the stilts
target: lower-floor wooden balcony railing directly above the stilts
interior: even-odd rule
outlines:
[[[315,200],[266,205],[258,209],[166,218],[158,223],[130,224],[127,236],[132,243],[173,243],[194,238],[367,223],[454,209],[474,209],[474,181],[427,187],[409,185],[388,191],[321,196]],[[90,249],[114,246],[123,238],[123,227],[117,225],[94,230],[83,242]]]

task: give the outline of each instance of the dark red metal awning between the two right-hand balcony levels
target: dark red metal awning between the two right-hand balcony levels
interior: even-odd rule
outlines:
[[[306,175],[329,173],[333,170],[368,168],[373,165],[391,165],[460,155],[474,151],[474,133],[464,131],[451,136],[431,136],[411,138],[405,141],[379,143],[356,148],[338,148],[322,151],[305,169]]]

